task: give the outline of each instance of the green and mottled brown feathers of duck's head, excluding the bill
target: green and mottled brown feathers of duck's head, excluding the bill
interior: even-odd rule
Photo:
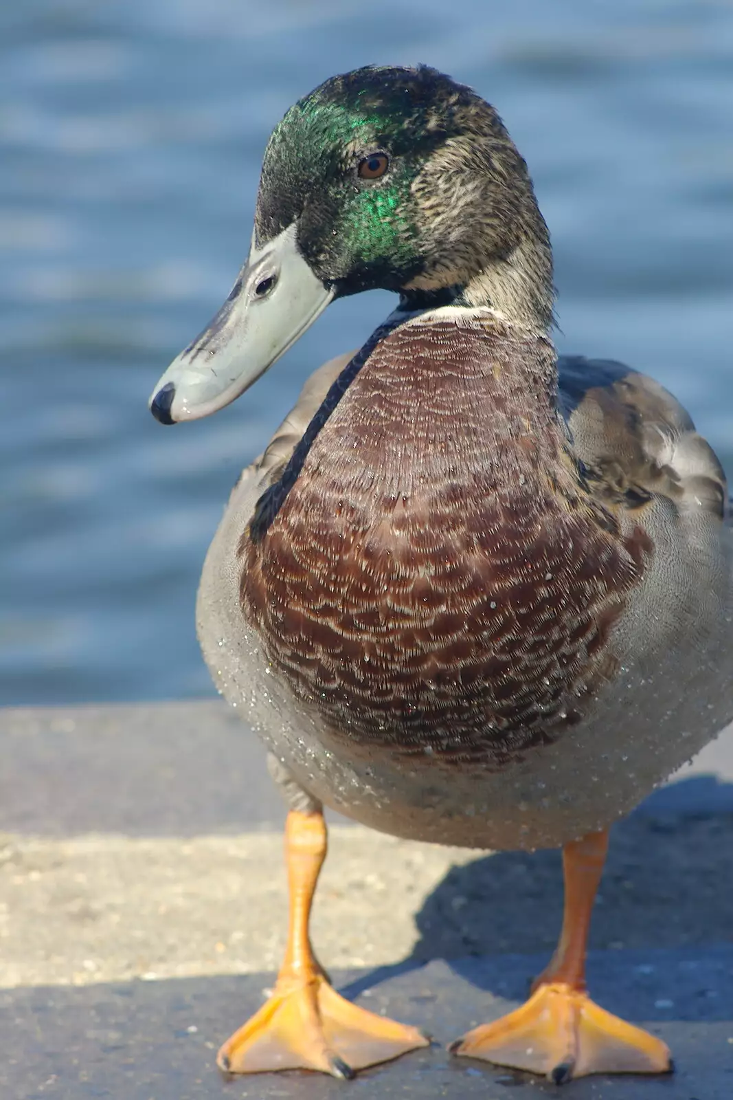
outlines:
[[[359,163],[385,153],[387,172]],[[298,224],[311,270],[340,295],[489,304],[552,321],[552,258],[526,165],[499,116],[435,69],[367,67],[326,80],[275,128],[258,244]]]

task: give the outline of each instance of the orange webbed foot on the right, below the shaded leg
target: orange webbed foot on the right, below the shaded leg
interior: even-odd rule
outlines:
[[[588,1074],[664,1074],[669,1048],[564,982],[541,985],[514,1012],[468,1032],[451,1052],[544,1074],[556,1085]]]

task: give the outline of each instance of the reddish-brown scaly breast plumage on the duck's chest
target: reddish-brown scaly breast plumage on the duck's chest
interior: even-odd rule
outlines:
[[[498,769],[615,671],[653,548],[589,493],[556,392],[549,342],[488,310],[398,324],[331,387],[238,552],[244,615],[335,736]]]

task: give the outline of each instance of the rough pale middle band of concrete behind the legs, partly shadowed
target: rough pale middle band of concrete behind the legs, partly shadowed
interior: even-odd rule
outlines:
[[[7,835],[0,987],[276,969],[287,912],[281,851],[280,832]],[[733,815],[622,822],[612,834],[590,944],[617,952],[729,941],[731,881]],[[559,853],[488,856],[336,826],[313,942],[329,969],[473,953],[549,954],[562,909]]]

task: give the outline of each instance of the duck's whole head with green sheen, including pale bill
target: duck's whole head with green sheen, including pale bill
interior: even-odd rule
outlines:
[[[501,119],[435,69],[332,77],[275,128],[249,256],[151,398],[162,424],[240,396],[334,298],[381,287],[401,309],[490,306],[552,323],[552,254]]]

